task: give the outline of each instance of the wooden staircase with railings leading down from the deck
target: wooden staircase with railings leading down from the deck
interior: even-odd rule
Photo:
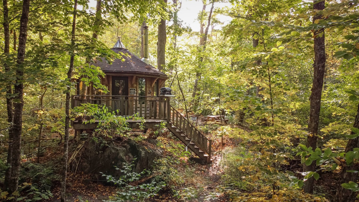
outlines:
[[[212,140],[206,138],[190,121],[171,105],[168,106],[167,128],[205,163],[211,160]]]

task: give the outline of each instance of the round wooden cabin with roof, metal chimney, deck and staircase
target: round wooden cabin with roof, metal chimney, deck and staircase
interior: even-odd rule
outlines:
[[[109,93],[96,93],[88,87],[85,92],[80,83],[76,94],[71,97],[71,107],[84,103],[106,105],[111,110],[119,110],[118,115],[129,116],[138,114],[145,119],[145,128],[154,128],[161,121],[167,122],[167,128],[190,148],[204,162],[211,162],[211,140],[206,138],[187,118],[170,104],[170,96],[160,95],[167,75],[149,65],[148,62],[148,27],[144,27],[144,58],[140,59],[125,48],[120,39],[111,50],[122,52],[123,56],[107,64],[106,60],[97,61],[106,74],[101,83],[107,86]],[[137,121],[128,120],[130,128],[137,128]],[[98,123],[83,124],[83,120],[73,121],[76,134],[83,130],[92,130]]]

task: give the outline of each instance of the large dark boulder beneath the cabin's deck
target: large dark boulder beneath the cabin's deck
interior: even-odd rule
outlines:
[[[121,169],[124,164],[129,165],[134,161],[132,171],[141,173],[144,169],[151,168],[157,156],[155,151],[148,150],[133,140],[127,140],[119,145],[113,142],[106,144],[88,141],[84,145],[78,171],[91,174],[93,180],[106,179],[101,173],[118,178],[123,174],[116,167]]]

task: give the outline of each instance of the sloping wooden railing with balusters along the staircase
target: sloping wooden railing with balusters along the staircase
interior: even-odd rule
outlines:
[[[208,158],[211,158],[211,143],[212,140],[206,138],[188,119],[179,113],[174,107],[169,105],[168,113],[170,116],[167,117],[167,122],[172,123],[175,127],[186,134],[188,139],[196,144],[203,152],[208,154]]]

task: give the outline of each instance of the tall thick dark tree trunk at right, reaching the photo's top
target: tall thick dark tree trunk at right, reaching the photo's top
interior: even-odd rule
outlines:
[[[325,1],[314,0],[313,5],[315,10],[323,10],[325,7]],[[313,17],[313,23],[316,19],[321,19],[322,15],[315,15]],[[325,73],[325,37],[324,29],[314,31],[314,64],[313,64],[313,86],[312,94],[310,96],[310,114],[308,123],[308,136],[307,147],[312,147],[313,150],[317,147],[317,134],[319,124],[320,105],[322,98],[323,78]],[[311,165],[303,165],[303,171],[315,171],[316,162],[313,161]],[[313,193],[314,178],[311,177],[304,181],[304,192]]]

